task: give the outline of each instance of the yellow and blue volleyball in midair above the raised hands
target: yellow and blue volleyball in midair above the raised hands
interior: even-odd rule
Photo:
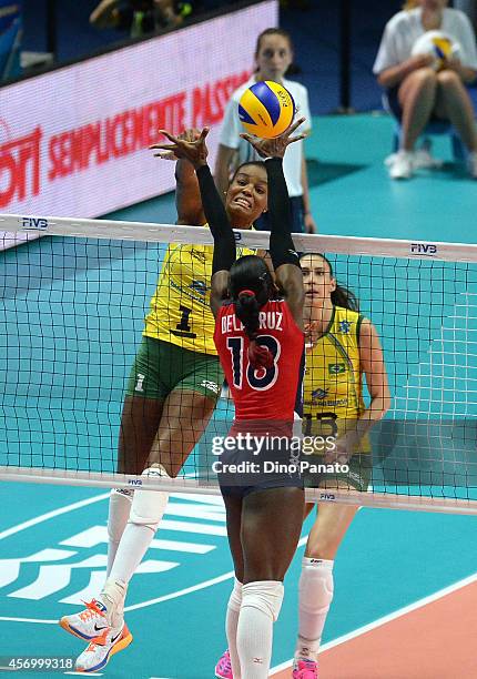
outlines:
[[[238,102],[238,118],[246,132],[273,139],[285,132],[295,116],[295,102],[283,85],[272,80],[256,82]]]

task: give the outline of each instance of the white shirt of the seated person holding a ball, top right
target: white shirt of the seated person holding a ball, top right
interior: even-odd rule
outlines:
[[[409,59],[413,45],[426,32],[420,7],[395,14],[386,23],[373,72],[377,75],[386,69]],[[450,8],[443,10],[439,30],[454,38],[460,45],[463,65],[477,70],[477,49],[471,23],[464,12]]]

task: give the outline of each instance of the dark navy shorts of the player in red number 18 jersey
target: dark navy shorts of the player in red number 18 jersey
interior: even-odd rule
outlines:
[[[216,454],[213,469],[222,495],[303,488],[301,439],[293,435],[293,423],[235,423]]]

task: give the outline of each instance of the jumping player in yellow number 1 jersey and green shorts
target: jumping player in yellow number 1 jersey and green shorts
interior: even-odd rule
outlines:
[[[195,132],[184,136],[194,139]],[[179,160],[175,178],[177,223],[204,226],[192,164]],[[266,202],[264,163],[238,168],[225,200],[234,227],[250,229]],[[119,437],[121,474],[175,477],[213,413],[223,372],[210,310],[212,256],[207,245],[168,249],[126,386]],[[60,620],[63,629],[89,642],[77,659],[78,670],[100,670],[131,642],[123,618],[128,584],[158,530],[168,497],[158,490],[112,490],[104,588],[84,610]]]

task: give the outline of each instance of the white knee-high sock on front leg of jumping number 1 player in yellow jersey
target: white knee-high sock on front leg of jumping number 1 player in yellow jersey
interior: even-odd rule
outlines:
[[[156,503],[154,519],[156,519],[159,524],[168,504],[169,493],[163,493],[162,490],[136,489],[135,495],[139,493],[148,493],[155,496],[153,498]],[[121,580],[126,585],[129,584],[154,538],[158,524],[154,526],[141,525],[139,523],[132,523],[130,519],[122,535],[111,569],[110,578],[112,580]]]

